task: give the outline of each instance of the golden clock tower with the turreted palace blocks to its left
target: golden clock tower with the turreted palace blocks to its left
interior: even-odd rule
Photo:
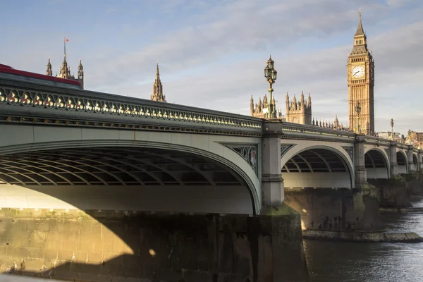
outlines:
[[[354,35],[353,50],[348,54],[347,63],[348,78],[348,127],[345,129],[355,132],[374,135],[374,60],[372,53],[367,48],[367,36],[362,27],[361,11],[357,30]],[[276,108],[275,99],[271,101]],[[263,101],[254,103],[253,97],[250,99],[250,115],[258,118],[264,118],[263,109],[268,105],[266,95]],[[319,125],[323,127],[343,129],[343,125],[335,118],[333,123],[321,123],[312,119],[312,99],[309,96],[307,101],[304,94],[301,93],[300,101],[297,101],[295,95],[290,101],[288,93],[285,102],[286,114],[281,110],[276,111],[276,118],[290,123],[301,123],[308,125]]]

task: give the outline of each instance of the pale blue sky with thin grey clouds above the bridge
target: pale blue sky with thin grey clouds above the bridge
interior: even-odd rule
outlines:
[[[159,62],[170,103],[250,114],[269,55],[285,95],[348,124],[346,63],[358,11],[375,62],[376,131],[423,130],[421,0],[0,0],[0,63],[45,73],[82,59],[85,89],[149,99]]]

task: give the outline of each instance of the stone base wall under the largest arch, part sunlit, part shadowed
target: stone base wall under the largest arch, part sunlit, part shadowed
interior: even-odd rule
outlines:
[[[255,217],[1,209],[0,271],[71,281],[307,281],[300,215],[283,209]]]

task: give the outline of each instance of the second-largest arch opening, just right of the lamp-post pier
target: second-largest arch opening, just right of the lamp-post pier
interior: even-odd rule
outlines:
[[[354,188],[353,163],[346,151],[326,145],[295,147],[281,158],[286,188]]]

